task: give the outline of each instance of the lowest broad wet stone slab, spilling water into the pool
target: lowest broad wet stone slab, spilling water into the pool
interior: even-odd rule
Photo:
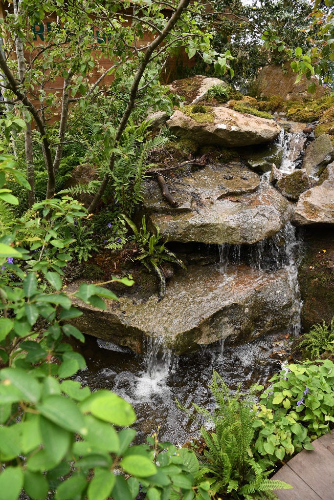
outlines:
[[[147,337],[163,337],[176,353],[232,336],[240,343],[271,331],[286,330],[291,317],[288,273],[260,273],[240,265],[232,270],[233,286],[217,265],[189,266],[173,276],[165,297],[138,296],[106,300],[100,310],[79,299],[83,315],[71,323],[90,335],[142,352]],[[69,284],[75,291],[80,282]]]

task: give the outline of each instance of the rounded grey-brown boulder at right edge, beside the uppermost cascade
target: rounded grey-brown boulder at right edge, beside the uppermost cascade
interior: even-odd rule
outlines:
[[[308,175],[318,177],[333,156],[333,144],[330,135],[323,133],[313,140],[305,149],[302,168]]]

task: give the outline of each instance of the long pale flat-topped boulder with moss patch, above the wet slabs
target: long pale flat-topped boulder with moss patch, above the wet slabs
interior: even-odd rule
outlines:
[[[167,125],[175,135],[192,138],[201,145],[228,147],[270,142],[280,132],[280,126],[272,119],[239,113],[226,107],[207,106],[207,109],[206,113],[177,110]]]

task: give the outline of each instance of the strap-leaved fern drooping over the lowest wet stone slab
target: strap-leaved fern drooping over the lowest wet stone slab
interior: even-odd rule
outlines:
[[[183,269],[186,269],[186,267],[182,260],[178,259],[172,251],[166,248],[166,241],[161,243],[162,236],[157,225],[155,226],[156,232],[151,233],[147,230],[145,215],[143,215],[142,227],[139,231],[132,220],[124,214],[123,217],[133,230],[135,241],[138,245],[139,255],[134,260],[139,260],[149,271],[153,271],[157,275],[160,283],[159,299],[161,300],[166,293],[166,279],[160,265],[164,261],[169,261],[179,265]]]

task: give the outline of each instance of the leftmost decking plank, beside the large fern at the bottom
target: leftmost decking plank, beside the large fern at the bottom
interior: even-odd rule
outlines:
[[[274,493],[279,500],[321,500],[321,497],[287,465],[279,469],[272,479],[278,479],[293,486],[293,489],[275,489]]]

